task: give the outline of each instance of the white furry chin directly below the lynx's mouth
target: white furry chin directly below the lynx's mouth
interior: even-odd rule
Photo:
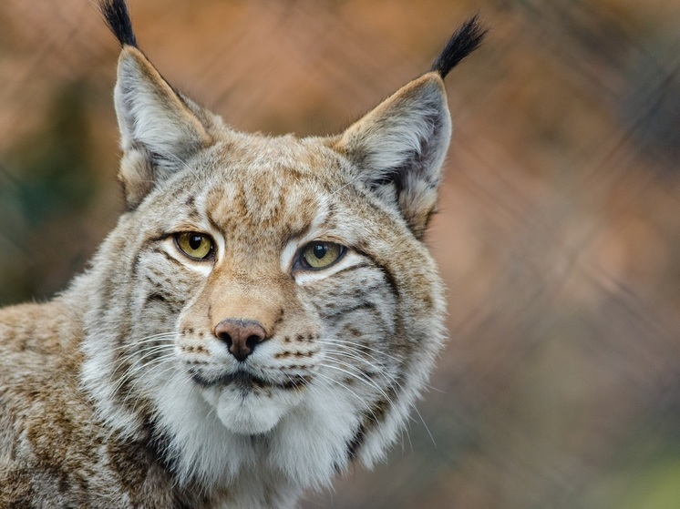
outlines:
[[[275,389],[273,392],[267,395],[225,387],[208,389],[202,394],[230,432],[254,435],[271,431],[296,403],[292,394]]]

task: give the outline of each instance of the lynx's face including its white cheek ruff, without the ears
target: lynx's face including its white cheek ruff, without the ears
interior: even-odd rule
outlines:
[[[355,455],[373,463],[430,369],[435,267],[340,143],[224,132],[102,250],[121,252],[107,255],[92,314],[110,322],[97,319],[85,382],[120,430],[158,422],[186,476],[211,478],[199,458],[215,452],[237,471],[244,454],[225,444],[252,436],[311,484]]]

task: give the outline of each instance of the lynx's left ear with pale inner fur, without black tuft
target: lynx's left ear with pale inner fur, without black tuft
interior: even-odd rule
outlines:
[[[134,46],[123,46],[118,59],[114,99],[124,151],[119,178],[134,209],[210,137],[188,102]]]

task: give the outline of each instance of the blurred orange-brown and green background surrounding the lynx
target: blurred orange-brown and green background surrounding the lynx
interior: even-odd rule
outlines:
[[[304,509],[680,508],[680,0],[130,3],[170,82],[300,136],[490,27],[447,80],[448,348],[389,462]],[[0,304],[63,289],[122,209],[117,56],[88,0],[0,3]]]

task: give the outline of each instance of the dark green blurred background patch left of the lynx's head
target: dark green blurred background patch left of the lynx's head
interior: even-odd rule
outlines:
[[[98,188],[87,108],[87,85],[67,84],[57,91],[45,125],[3,161],[0,303],[48,297],[64,282],[62,275],[45,284],[49,273],[79,270],[92,250],[78,224]]]

